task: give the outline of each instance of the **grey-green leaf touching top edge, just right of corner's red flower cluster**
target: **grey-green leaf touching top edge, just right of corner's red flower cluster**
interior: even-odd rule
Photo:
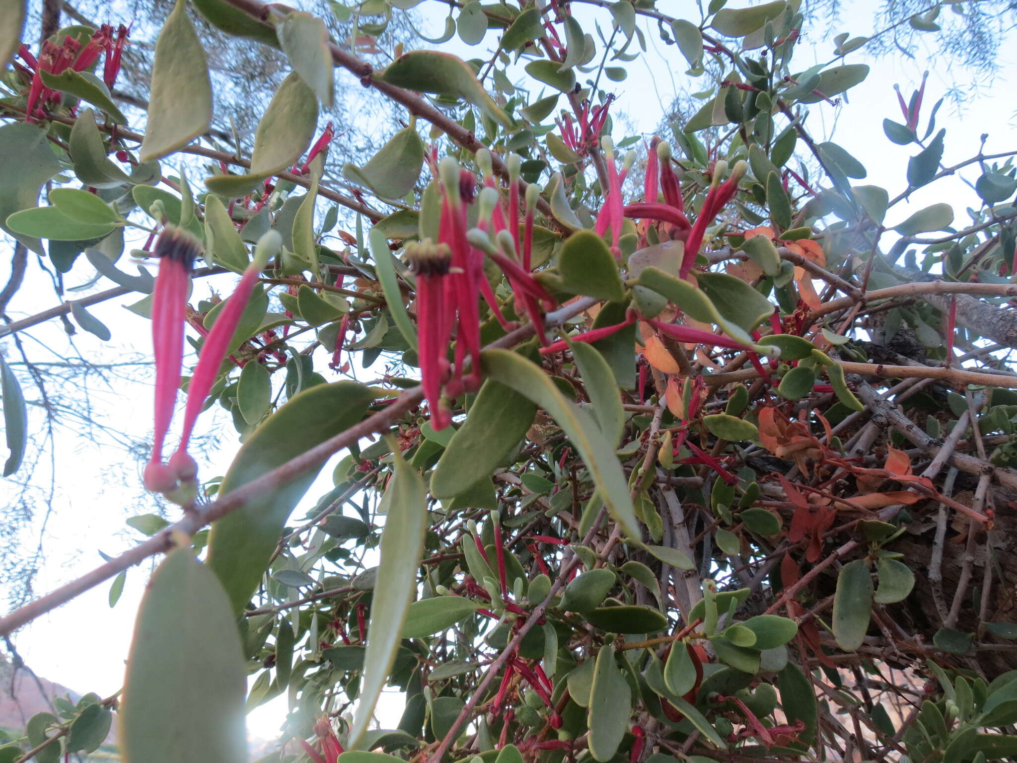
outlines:
[[[177,0],[156,42],[148,124],[138,158],[160,159],[181,149],[212,123],[212,81],[204,49]]]

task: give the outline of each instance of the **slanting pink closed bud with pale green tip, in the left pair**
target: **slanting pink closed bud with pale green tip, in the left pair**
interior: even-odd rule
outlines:
[[[197,464],[187,453],[187,446],[190,443],[191,432],[194,430],[194,422],[201,412],[204,400],[208,397],[208,391],[219,376],[219,368],[226,358],[227,350],[230,347],[230,340],[240,322],[240,315],[247,306],[254,285],[257,283],[261,271],[267,265],[268,259],[279,251],[282,245],[282,237],[278,231],[272,230],[265,233],[258,241],[254,251],[254,259],[244,270],[240,277],[240,283],[233,291],[233,294],[220,309],[216,322],[204,338],[201,351],[198,353],[197,365],[194,368],[194,375],[191,376],[187,386],[187,406],[184,409],[183,430],[180,434],[180,445],[176,452],[170,457],[170,469],[174,476],[183,483],[192,482],[197,475]],[[256,362],[256,361],[255,361]],[[179,361],[178,361],[179,363]],[[177,373],[179,379],[179,371]],[[179,380],[178,380],[179,385]]]

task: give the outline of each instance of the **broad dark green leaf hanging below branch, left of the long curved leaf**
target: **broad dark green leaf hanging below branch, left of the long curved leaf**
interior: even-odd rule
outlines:
[[[526,436],[537,406],[522,391],[488,379],[431,474],[431,494],[454,498],[490,477]],[[483,580],[483,578],[479,578]]]

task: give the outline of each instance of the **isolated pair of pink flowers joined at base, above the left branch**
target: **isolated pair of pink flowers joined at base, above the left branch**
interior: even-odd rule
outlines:
[[[244,270],[233,295],[220,309],[216,322],[204,335],[197,365],[187,387],[180,445],[166,463],[163,461],[163,446],[180,388],[190,274],[194,260],[201,253],[201,245],[186,231],[170,226],[156,239],[159,276],[152,298],[152,343],[156,358],[155,436],[152,458],[144,468],[144,485],[149,490],[169,493],[181,503],[193,500],[197,464],[187,453],[187,447],[194,423],[219,375],[230,340],[257,279],[281,245],[282,237],[277,231],[268,231],[261,237],[253,260]]]

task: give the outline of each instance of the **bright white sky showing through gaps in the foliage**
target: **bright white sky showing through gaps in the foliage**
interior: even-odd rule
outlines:
[[[661,0],[658,3],[664,9],[674,4],[673,0]],[[851,37],[854,37],[872,30],[873,13],[877,8],[874,0],[852,1],[845,3],[844,7],[842,21],[831,32],[831,37],[840,31],[850,32]],[[443,23],[446,13],[443,4],[439,8],[437,3],[425,3],[420,6],[420,10],[425,14],[434,14],[433,17],[428,15],[428,24],[432,30]],[[590,14],[588,9],[585,10]],[[949,12],[946,14],[949,15]],[[601,28],[610,28],[606,11],[597,12],[596,17],[600,20]],[[661,109],[658,104],[668,104],[674,95],[675,83],[681,84],[687,77],[682,73],[685,68],[683,59],[674,47],[663,45],[657,36],[655,24],[642,17],[640,23],[646,33],[649,53],[627,64],[630,76],[624,82],[611,84],[614,84],[618,97],[615,108],[627,113],[638,128],[647,133],[656,127],[660,118]],[[494,36],[489,34],[479,47],[467,48],[457,41],[458,48],[452,48],[450,44],[447,49],[463,57],[486,57],[494,40]],[[868,80],[850,91],[850,105],[847,108],[837,113],[830,108],[814,108],[809,122],[814,135],[835,140],[869,168],[869,178],[861,182],[882,185],[890,190],[891,196],[905,185],[904,171],[911,153],[894,145],[883,134],[884,117],[901,121],[893,84],[899,82],[906,97],[920,81],[921,72],[929,68],[931,75],[925,96],[928,109],[955,81],[971,78],[964,71],[945,70],[943,59],[936,56],[935,36],[928,36],[926,40],[929,47],[913,60],[899,55],[871,60],[852,54],[849,62],[865,61],[873,66]],[[1007,72],[1017,70],[1014,68],[1017,62],[1014,60],[1012,35],[1009,42],[1009,45],[1002,48],[999,64],[1003,73],[1000,78],[991,86],[973,93],[963,111],[958,113],[949,103],[944,104],[941,109],[939,124],[948,128],[944,164],[953,164],[969,157],[976,150],[979,135],[983,132],[990,134],[986,152],[1013,148],[1013,75],[1007,79]],[[801,69],[815,62],[828,61],[832,57],[833,47],[831,40],[806,37],[796,54],[796,61]],[[692,84],[690,90],[699,90],[699,85]],[[392,131],[396,129],[398,127],[393,125]],[[619,140],[625,135],[616,132],[614,137]],[[976,168],[968,170],[967,177],[972,182],[977,176]],[[965,220],[964,207],[977,206],[973,192],[967,186],[959,180],[951,180],[913,194],[910,209],[892,213],[889,222],[899,222],[911,212],[944,199],[954,204],[958,222]],[[122,266],[125,260],[121,260]],[[6,277],[7,273],[0,273],[0,279],[6,281]],[[14,317],[31,314],[53,302],[52,294],[45,288],[46,284],[38,271],[31,278],[40,285],[39,293],[44,296],[41,301],[36,301],[25,293],[19,295],[19,299],[12,305],[11,314]],[[99,288],[109,286],[108,282],[104,282]],[[220,288],[225,288],[225,285],[221,283]],[[204,297],[207,293],[206,283],[195,284],[195,298]],[[37,330],[34,334],[58,356],[73,358],[79,352],[84,357],[101,362],[116,361],[134,353],[148,353],[148,321],[123,308],[123,304],[134,301],[136,296],[113,300],[93,310],[113,331],[111,343],[102,343],[91,335],[79,332],[74,337],[72,348],[55,324]],[[7,357],[13,358],[12,343],[7,340],[3,345]],[[112,427],[143,435],[151,426],[152,389],[148,384],[122,382],[112,389],[94,387],[91,392],[95,413],[104,417]],[[34,399],[37,396],[29,391],[28,397]],[[213,419],[204,422],[205,426],[212,424]],[[227,457],[236,448],[232,426],[222,419],[215,422],[217,426],[221,424],[225,455],[219,459],[219,463],[203,467],[202,473],[205,476],[221,474],[228,462]],[[67,430],[61,430],[56,454],[58,466],[54,513],[47,526],[44,545],[47,562],[36,581],[38,591],[49,591],[100,564],[101,557],[97,549],[114,554],[140,539],[138,533],[124,525],[124,520],[131,514],[155,511],[155,506],[138,512],[127,511],[125,507],[134,505],[140,490],[133,467],[129,467],[125,475],[119,475],[116,470],[116,476],[110,475],[108,465],[122,460],[123,453],[108,442],[84,442]],[[328,475],[331,469],[326,468],[322,473]],[[37,480],[45,476],[46,469],[42,468],[37,474]],[[316,497],[330,487],[331,483],[326,480],[319,480],[309,494]],[[13,494],[9,486],[0,487],[0,495],[8,501]],[[302,512],[303,509],[298,511]],[[24,541],[35,544],[37,538],[37,533],[26,534]],[[15,643],[27,663],[41,676],[81,693],[94,691],[105,696],[119,689],[134,612],[149,570],[151,566],[145,565],[142,569],[133,569],[128,573],[123,596],[113,609],[107,603],[107,584],[20,631]],[[398,718],[402,710],[401,702],[395,697],[391,699],[393,701],[383,703],[382,706],[382,717],[386,724],[393,723],[392,718]],[[252,713],[249,722],[252,738],[272,739],[285,712],[284,706],[273,702]]]

